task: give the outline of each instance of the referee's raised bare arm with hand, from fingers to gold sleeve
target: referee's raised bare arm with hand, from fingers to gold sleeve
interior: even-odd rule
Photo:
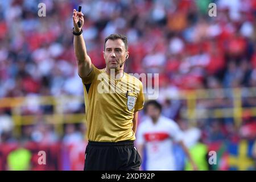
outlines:
[[[74,49],[77,60],[77,67],[80,77],[86,77],[92,70],[92,61],[86,52],[84,38],[82,37],[82,26],[84,25],[84,14],[73,10],[73,34],[74,34]],[[81,27],[77,22],[80,21]]]

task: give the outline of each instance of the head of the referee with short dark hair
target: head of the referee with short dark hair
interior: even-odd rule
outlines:
[[[125,49],[125,43],[123,43],[121,39],[107,40],[105,44],[105,51],[103,53],[106,68],[108,69],[120,69],[120,65],[129,56],[129,52]]]

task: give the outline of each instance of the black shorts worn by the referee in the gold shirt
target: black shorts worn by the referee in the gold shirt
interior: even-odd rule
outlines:
[[[85,150],[85,171],[139,171],[141,156],[134,141],[92,142]]]

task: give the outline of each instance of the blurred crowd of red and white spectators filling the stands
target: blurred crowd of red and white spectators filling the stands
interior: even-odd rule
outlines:
[[[46,4],[46,17],[38,4]],[[209,3],[217,16],[208,15]],[[72,13],[82,6],[84,39],[92,63],[104,68],[104,39],[127,36],[127,73],[159,73],[163,115],[183,123],[186,103],[171,100],[180,90],[256,86],[256,1],[251,0],[11,0],[0,2],[0,98],[23,96],[82,96],[73,51]],[[199,108],[233,107],[232,95],[199,101]],[[256,106],[256,96],[242,97],[243,107]],[[51,113],[34,107],[24,114]],[[82,105],[69,112],[83,112]],[[42,113],[40,113],[42,114]],[[0,143],[15,140],[9,108],[0,108]],[[141,114],[143,120],[144,114]],[[256,117],[242,113],[244,128],[233,118],[197,122],[204,143],[256,138]],[[182,124],[180,124],[181,126]],[[250,131],[250,132],[249,132]],[[42,122],[23,127],[22,140],[64,142],[83,140],[84,126],[67,125],[63,136]],[[72,136],[69,136],[72,134]]]

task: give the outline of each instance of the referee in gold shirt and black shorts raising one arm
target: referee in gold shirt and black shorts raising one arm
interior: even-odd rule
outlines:
[[[73,10],[74,48],[84,85],[89,140],[84,170],[137,171],[141,166],[141,156],[134,147],[134,140],[138,111],[143,109],[144,96],[142,82],[123,72],[129,57],[127,38],[112,34],[105,39],[103,55],[106,68],[97,69],[86,52],[82,37],[83,16]],[[77,25],[79,21],[81,27]]]

